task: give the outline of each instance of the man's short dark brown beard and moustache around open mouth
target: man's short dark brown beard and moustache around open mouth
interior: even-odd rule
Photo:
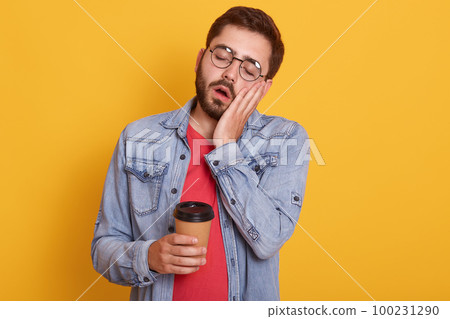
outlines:
[[[203,60],[203,57],[202,57]],[[228,81],[222,79],[218,81],[211,82],[209,85],[206,84],[206,80],[203,76],[202,72],[202,62],[200,61],[198,68],[197,68],[197,75],[195,77],[195,89],[197,92],[197,99],[200,104],[200,107],[202,110],[211,118],[218,121],[222,114],[227,110],[228,106],[225,105],[225,103],[217,98],[212,97],[211,101],[208,100],[207,97],[207,90],[213,86],[216,85],[223,85],[227,87],[230,90],[231,99],[230,103],[234,100],[236,97],[236,94],[234,92],[233,85],[230,84]]]

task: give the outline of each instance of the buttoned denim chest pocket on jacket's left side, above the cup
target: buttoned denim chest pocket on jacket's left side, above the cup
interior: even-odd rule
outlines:
[[[128,172],[129,200],[135,214],[144,216],[158,209],[168,166],[168,163],[158,161],[127,160],[125,170]]]

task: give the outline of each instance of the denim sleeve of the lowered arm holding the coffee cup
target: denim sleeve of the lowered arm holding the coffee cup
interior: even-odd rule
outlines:
[[[157,276],[148,268],[148,248],[154,241],[133,239],[128,179],[124,169],[124,132],[120,135],[106,175],[91,257],[95,270],[109,281],[145,287],[153,284]]]

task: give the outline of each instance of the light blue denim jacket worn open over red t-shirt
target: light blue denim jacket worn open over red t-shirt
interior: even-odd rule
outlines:
[[[182,109],[129,124],[114,150],[91,256],[105,278],[132,287],[131,300],[172,300],[174,275],[149,269],[148,248],[174,231],[195,105],[193,98]],[[280,299],[278,252],[300,214],[309,158],[303,127],[256,110],[236,142],[205,155],[218,185],[229,300]]]

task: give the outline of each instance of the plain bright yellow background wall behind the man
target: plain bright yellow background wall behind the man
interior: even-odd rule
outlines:
[[[143,69],[184,105],[213,20],[257,6],[286,45],[263,112],[373,2],[80,0],[102,30],[72,0],[2,1],[0,299],[75,300],[98,278],[117,138],[178,107]],[[303,229],[281,251],[283,300],[450,299],[449,12],[379,0],[268,111],[301,123],[326,163],[313,158]],[[128,295],[101,278],[81,300]]]

